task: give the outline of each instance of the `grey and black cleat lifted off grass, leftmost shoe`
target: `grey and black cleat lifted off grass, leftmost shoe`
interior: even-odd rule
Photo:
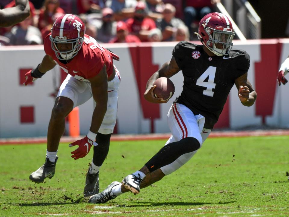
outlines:
[[[55,162],[50,162],[48,158],[45,159],[43,164],[38,170],[31,173],[29,179],[36,183],[41,183],[45,178],[52,178],[55,173],[55,165],[58,157],[55,158]]]

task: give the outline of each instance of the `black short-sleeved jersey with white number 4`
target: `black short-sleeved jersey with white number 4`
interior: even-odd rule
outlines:
[[[183,72],[184,84],[175,102],[205,117],[205,128],[218,121],[235,79],[250,67],[246,51],[232,49],[227,56],[209,56],[202,45],[179,42],[172,51]]]

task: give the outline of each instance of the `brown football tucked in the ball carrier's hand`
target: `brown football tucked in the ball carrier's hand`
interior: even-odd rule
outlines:
[[[157,85],[154,89],[154,96],[163,98],[163,101],[170,99],[175,93],[174,83],[166,77],[158,78],[154,85]]]

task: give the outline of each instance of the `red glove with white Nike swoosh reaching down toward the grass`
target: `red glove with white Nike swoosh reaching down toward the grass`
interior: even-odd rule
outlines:
[[[73,152],[71,152],[72,154],[71,157],[74,158],[74,160],[77,160],[87,155],[92,145],[97,146],[98,144],[89,139],[87,136],[85,136],[83,139],[77,140],[74,143],[69,144],[69,147],[75,145],[78,145],[79,147],[75,149]]]

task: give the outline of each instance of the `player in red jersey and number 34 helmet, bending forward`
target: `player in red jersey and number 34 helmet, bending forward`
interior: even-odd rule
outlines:
[[[75,160],[87,155],[93,146],[93,159],[84,188],[84,197],[88,197],[98,193],[99,169],[107,156],[116,123],[120,74],[113,65],[113,59],[119,58],[86,35],[84,23],[72,14],[57,18],[51,33],[44,39],[44,50],[46,55],[42,62],[25,74],[24,85],[41,78],[55,65],[68,75],[60,86],[52,109],[45,163],[29,178],[39,183],[54,176],[59,140],[64,133],[64,118],[74,107],[93,97],[96,105],[90,130],[84,138],[70,144],[70,147],[78,146],[71,152]]]

